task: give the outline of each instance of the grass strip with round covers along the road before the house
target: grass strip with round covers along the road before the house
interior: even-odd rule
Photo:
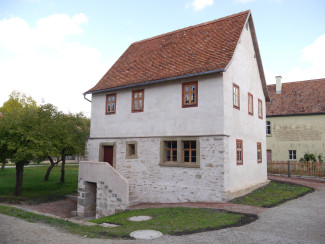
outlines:
[[[62,228],[81,236],[92,238],[124,238],[132,231],[151,229],[169,235],[183,235],[208,230],[217,230],[231,226],[240,226],[257,219],[255,215],[245,215],[215,209],[197,208],[157,208],[126,211],[110,217],[93,220],[95,223],[115,223],[121,226],[105,228],[101,226],[82,226],[68,221],[41,216],[20,209],[0,206],[0,213],[19,217],[30,222],[41,222]],[[149,215],[153,218],[143,222],[127,221],[127,218],[138,215]]]

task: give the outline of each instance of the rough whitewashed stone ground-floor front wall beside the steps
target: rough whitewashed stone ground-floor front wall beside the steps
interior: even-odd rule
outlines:
[[[160,166],[160,138],[91,139],[87,156],[98,161],[100,143],[115,142],[116,169],[144,202],[222,201],[224,138],[199,138],[199,168]],[[126,141],[137,141],[137,159],[125,158]]]

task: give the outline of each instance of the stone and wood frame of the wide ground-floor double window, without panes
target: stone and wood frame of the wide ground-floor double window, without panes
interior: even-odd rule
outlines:
[[[177,142],[177,161],[166,161],[165,143]],[[184,162],[183,143],[186,141],[196,142],[196,162]],[[164,137],[160,140],[160,166],[200,168],[200,140],[198,137]]]

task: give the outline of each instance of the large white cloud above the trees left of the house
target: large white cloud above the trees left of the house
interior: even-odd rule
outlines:
[[[84,111],[90,89],[113,62],[102,63],[100,52],[80,43],[84,14],[54,14],[31,27],[24,19],[0,21],[0,106],[13,90],[45,100],[65,112]],[[69,38],[68,38],[69,37]]]

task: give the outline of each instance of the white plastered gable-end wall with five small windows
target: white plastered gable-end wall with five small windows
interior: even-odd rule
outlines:
[[[240,42],[224,77],[224,133],[229,160],[225,162],[225,190],[234,192],[267,180],[265,97],[258,71],[250,28]],[[240,110],[233,108],[233,83],[240,87]],[[248,92],[253,94],[254,115],[248,114]],[[258,99],[263,102],[263,120],[258,118]],[[236,164],[236,139],[243,140],[243,165]],[[262,143],[262,163],[257,163],[257,142]]]

